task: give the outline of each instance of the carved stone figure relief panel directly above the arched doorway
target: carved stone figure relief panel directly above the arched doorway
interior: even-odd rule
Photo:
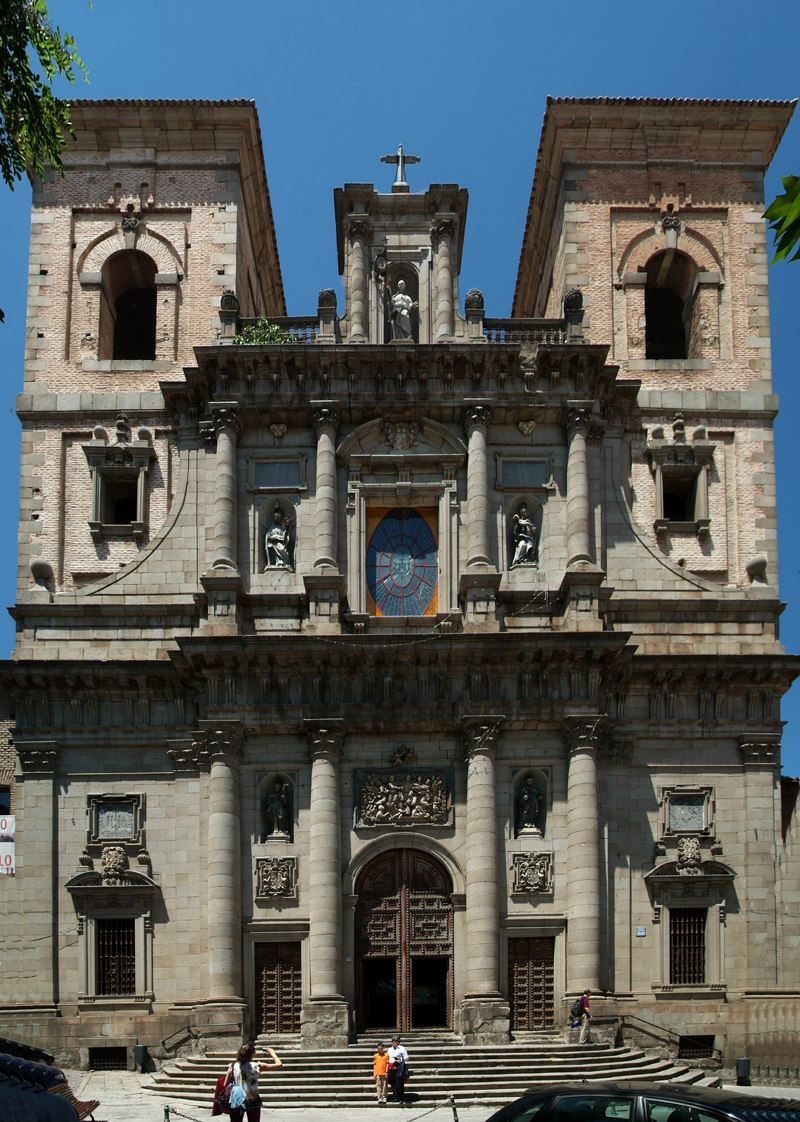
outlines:
[[[445,826],[450,822],[448,774],[443,771],[361,772],[359,826]]]

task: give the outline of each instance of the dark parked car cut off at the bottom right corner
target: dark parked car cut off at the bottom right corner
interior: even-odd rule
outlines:
[[[800,1101],[679,1083],[572,1083],[531,1088],[487,1122],[800,1122]]]

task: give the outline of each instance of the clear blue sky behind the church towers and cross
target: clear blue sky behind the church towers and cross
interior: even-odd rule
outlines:
[[[90,98],[251,98],[258,107],[289,314],[339,287],[333,187],[388,188],[384,153],[403,142],[422,164],[412,190],[469,188],[461,293],[476,286],[487,314],[508,315],[548,94],[560,96],[796,98],[800,3],[741,0],[52,0],[75,36]],[[767,176],[800,171],[800,112]],[[0,187],[0,600],[15,599],[19,424],[30,195]],[[771,270],[776,426],[781,637],[800,652],[797,323],[800,263]],[[341,304],[341,300],[340,300]],[[0,619],[0,656],[13,623]],[[783,705],[784,772],[800,773],[800,684]]]

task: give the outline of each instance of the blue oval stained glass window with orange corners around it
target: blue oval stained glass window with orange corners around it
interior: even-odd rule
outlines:
[[[424,616],[439,579],[436,542],[419,511],[389,511],[367,546],[367,587],[380,615]]]

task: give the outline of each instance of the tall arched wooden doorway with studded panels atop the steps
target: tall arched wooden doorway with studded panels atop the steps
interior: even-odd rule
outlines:
[[[393,849],[356,891],[358,1030],[452,1026],[452,882],[435,857]]]

